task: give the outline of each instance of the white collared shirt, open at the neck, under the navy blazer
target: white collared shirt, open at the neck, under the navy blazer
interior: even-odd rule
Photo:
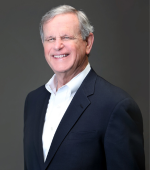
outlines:
[[[62,117],[64,116],[71,100],[90,70],[91,67],[88,63],[82,72],[80,72],[77,76],[75,76],[57,91],[57,78],[55,74],[45,85],[45,88],[51,93],[51,96],[45,115],[45,123],[42,135],[44,161],[46,160],[54,134]]]

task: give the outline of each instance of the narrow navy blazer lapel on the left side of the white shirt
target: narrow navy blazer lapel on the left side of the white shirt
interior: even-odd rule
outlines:
[[[50,98],[50,93],[45,89],[41,93],[41,95],[38,96],[38,101],[36,104],[36,113],[35,113],[35,130],[34,130],[34,143],[35,143],[35,149],[37,152],[37,157],[41,166],[41,169],[44,165],[44,157],[43,157],[43,145],[42,145],[42,133],[43,133],[43,125],[44,125],[44,119],[46,114],[46,109],[48,105],[48,101]]]

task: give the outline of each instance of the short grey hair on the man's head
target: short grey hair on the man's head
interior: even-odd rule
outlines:
[[[61,5],[51,9],[42,17],[40,22],[40,35],[42,41],[44,41],[44,33],[43,33],[44,23],[54,18],[56,15],[67,14],[67,13],[73,13],[77,15],[79,20],[80,32],[83,40],[86,40],[90,32],[94,32],[94,27],[90,24],[89,19],[87,18],[86,14],[83,11],[78,11],[69,5]]]

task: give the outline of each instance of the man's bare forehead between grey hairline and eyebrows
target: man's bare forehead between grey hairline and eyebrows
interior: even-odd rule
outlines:
[[[47,34],[75,34],[79,33],[79,21],[75,14],[60,14],[48,20],[43,25],[44,35]]]

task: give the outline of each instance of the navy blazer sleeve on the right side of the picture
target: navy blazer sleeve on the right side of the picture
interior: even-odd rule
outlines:
[[[104,149],[107,170],[145,170],[142,116],[132,99],[120,101],[113,109]]]

